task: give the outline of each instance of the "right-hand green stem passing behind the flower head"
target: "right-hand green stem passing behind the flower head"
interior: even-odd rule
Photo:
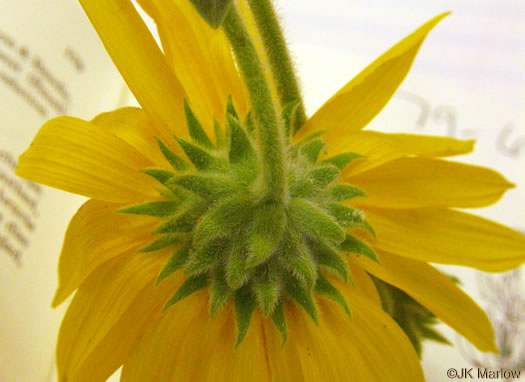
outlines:
[[[248,3],[268,54],[281,105],[299,101],[293,126],[295,132],[306,122],[306,114],[279,20],[271,0],[248,0]]]

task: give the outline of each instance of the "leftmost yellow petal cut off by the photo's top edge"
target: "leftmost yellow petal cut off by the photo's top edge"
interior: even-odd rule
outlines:
[[[177,133],[184,89],[129,0],[80,0],[102,43],[142,107]]]

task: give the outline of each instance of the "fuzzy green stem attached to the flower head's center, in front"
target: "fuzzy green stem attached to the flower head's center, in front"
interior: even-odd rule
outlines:
[[[233,4],[222,25],[250,93],[261,144],[267,196],[273,202],[283,203],[286,191],[284,137],[263,67],[244,22]]]

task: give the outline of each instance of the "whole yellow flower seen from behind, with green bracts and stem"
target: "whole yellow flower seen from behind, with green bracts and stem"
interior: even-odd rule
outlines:
[[[441,159],[472,141],[363,130],[445,15],[306,120],[259,31],[267,2],[141,0],[162,50],[129,0],[80,2],[141,108],[52,119],[20,157],[18,175],[90,198],[60,255],[59,381],[423,380],[377,280],[497,351],[427,262],[521,264],[523,235],[456,210],[512,184]]]

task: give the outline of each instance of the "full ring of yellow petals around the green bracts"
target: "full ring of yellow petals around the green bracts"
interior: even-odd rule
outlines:
[[[139,2],[157,23],[163,52],[128,0],[81,0],[142,108],[92,121],[50,120],[17,169],[20,176],[91,198],[73,217],[60,256],[53,305],[76,294],[58,339],[59,381],[104,381],[122,365],[125,382],[423,380],[410,341],[381,309],[369,274],[405,291],[479,349],[497,350],[483,311],[427,262],[491,272],[521,264],[523,235],[455,209],[494,203],[512,184],[489,169],[440,159],[470,152],[471,141],[362,130],[388,102],[443,16],[374,61],[293,138],[300,144],[324,131],[327,152],[321,159],[346,152],[362,156],[344,167],[338,182],[366,192],[340,205],[364,212],[366,221],[348,230],[365,249],[345,252],[351,283],[324,272],[344,297],[343,307],[317,293],[316,325],[308,307],[278,300],[285,304],[283,345],[279,325],[260,303],[237,347],[242,330],[236,329],[237,305],[225,301],[211,315],[212,289],[164,309],[187,275],[174,273],[155,286],[174,248],[181,248],[180,236],[161,236],[172,244],[166,247],[151,234],[160,232],[170,208],[177,208],[173,190],[159,180],[174,172],[174,155],[185,153],[194,166],[200,163],[180,140],[188,138],[187,119],[202,123],[207,133],[199,135],[202,130],[194,126],[193,141],[213,146],[206,139],[214,119],[221,126],[233,123],[224,114],[228,98],[241,120],[250,106],[221,30],[209,28],[185,1]],[[140,214],[144,203],[157,216]],[[320,283],[321,273],[317,277]]]

